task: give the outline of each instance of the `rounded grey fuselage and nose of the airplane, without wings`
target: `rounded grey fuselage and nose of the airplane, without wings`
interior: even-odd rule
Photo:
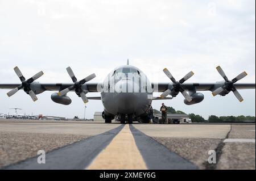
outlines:
[[[152,102],[151,83],[146,75],[131,65],[118,67],[102,85],[101,100],[108,115],[141,116]]]

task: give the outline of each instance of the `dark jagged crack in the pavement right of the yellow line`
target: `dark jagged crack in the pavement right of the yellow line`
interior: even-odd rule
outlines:
[[[226,139],[229,138],[229,134],[231,133],[231,131],[232,131],[232,124],[230,124],[230,130],[229,130],[229,132],[226,134],[226,137],[225,137],[224,139],[221,139],[221,141],[219,142],[217,148],[214,149],[215,152],[216,152],[216,163],[215,163],[215,164],[210,164],[210,163],[208,163],[208,161],[206,161],[206,162],[204,163],[206,170],[216,170],[217,165],[218,165],[218,161],[220,161],[221,155],[222,155],[222,153],[223,153],[222,150],[223,150],[223,148],[224,148],[224,146],[225,146],[224,140],[226,140]]]

